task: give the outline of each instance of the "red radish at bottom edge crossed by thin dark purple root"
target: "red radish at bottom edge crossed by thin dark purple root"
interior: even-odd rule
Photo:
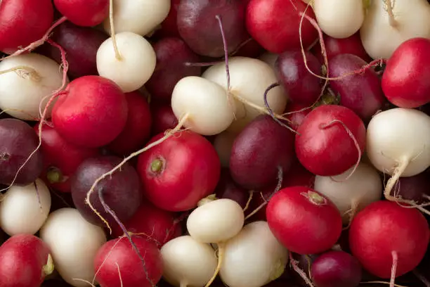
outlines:
[[[163,263],[157,245],[141,236],[131,238],[144,259],[145,269],[152,283],[146,278],[143,262],[131,248],[130,241],[124,237],[107,241],[100,247],[94,258],[94,269],[98,270],[96,281],[100,286],[150,287],[155,286],[161,279]]]

